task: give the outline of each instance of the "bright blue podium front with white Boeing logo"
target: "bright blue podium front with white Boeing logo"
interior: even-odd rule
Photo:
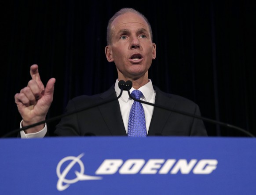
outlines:
[[[256,139],[0,140],[3,195],[254,195]]]

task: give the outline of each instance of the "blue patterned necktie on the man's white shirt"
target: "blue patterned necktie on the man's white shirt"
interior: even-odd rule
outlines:
[[[141,91],[133,90],[132,97],[139,100],[143,96]],[[134,101],[128,121],[128,137],[146,137],[146,120],[143,106],[140,102]]]

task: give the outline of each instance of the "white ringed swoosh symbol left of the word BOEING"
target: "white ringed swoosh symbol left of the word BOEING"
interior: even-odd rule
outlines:
[[[67,156],[63,159],[60,160],[60,162],[57,165],[56,168],[56,173],[57,176],[59,177],[59,180],[57,182],[57,189],[59,191],[63,191],[66,190],[66,188],[69,187],[70,184],[74,184],[77,181],[84,181],[84,180],[101,180],[102,177],[96,177],[96,176],[90,176],[90,175],[85,175],[84,174],[84,163],[80,160],[80,158],[83,156],[84,154],[80,154],[77,157],[76,156]],[[68,166],[66,166],[66,168],[62,171],[61,173],[61,166],[64,162],[71,160],[71,162],[68,164]],[[66,179],[66,175],[69,173],[69,171],[71,170],[71,168],[78,163],[80,166],[80,172],[75,171],[76,174],[76,178],[74,179]]]

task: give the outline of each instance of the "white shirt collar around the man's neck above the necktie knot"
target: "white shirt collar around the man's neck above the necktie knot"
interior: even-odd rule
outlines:
[[[140,90],[143,93],[143,97],[142,99],[144,101],[150,101],[150,99],[152,98],[152,96],[154,95],[154,88],[153,88],[153,84],[152,81],[150,79],[148,79],[149,82],[146,83],[145,85],[143,85],[142,87],[140,87],[138,90]],[[115,91],[117,96],[121,93],[121,89],[118,87],[118,79],[116,80],[115,83]],[[130,89],[130,93],[132,93],[132,91],[135,90],[133,87]],[[127,102],[129,99],[131,99],[129,97],[129,94],[127,91],[123,91],[121,97],[120,97],[123,101]]]

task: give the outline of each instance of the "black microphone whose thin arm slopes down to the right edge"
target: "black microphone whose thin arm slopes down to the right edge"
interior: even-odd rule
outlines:
[[[123,85],[129,86],[129,87],[132,88],[132,81],[128,80]],[[128,91],[129,97],[131,97],[134,101],[138,101],[140,103],[144,103],[144,104],[147,104],[147,105],[151,105],[151,106],[155,106],[155,107],[158,107],[158,108],[162,108],[162,109],[165,109],[165,110],[168,110],[168,111],[176,112],[176,113],[179,113],[179,114],[182,114],[182,115],[186,115],[186,116],[194,117],[194,118],[197,118],[197,119],[201,119],[201,120],[209,122],[209,123],[214,123],[214,124],[219,124],[221,126],[226,126],[228,128],[232,128],[232,129],[238,130],[238,131],[242,132],[243,134],[246,134],[249,137],[255,137],[253,134],[251,134],[247,130],[244,130],[244,129],[238,127],[238,126],[230,125],[228,123],[223,123],[223,122],[220,122],[220,121],[217,121],[217,120],[213,120],[213,119],[209,119],[209,118],[206,118],[206,117],[203,117],[203,116],[198,116],[198,115],[190,114],[188,112],[183,112],[183,111],[180,111],[180,110],[167,108],[167,107],[162,106],[162,105],[157,105],[157,104],[152,104],[150,102],[146,102],[146,101],[142,101],[142,100],[137,100],[134,97],[132,97],[132,95],[130,94],[129,90],[127,90],[127,91]]]

